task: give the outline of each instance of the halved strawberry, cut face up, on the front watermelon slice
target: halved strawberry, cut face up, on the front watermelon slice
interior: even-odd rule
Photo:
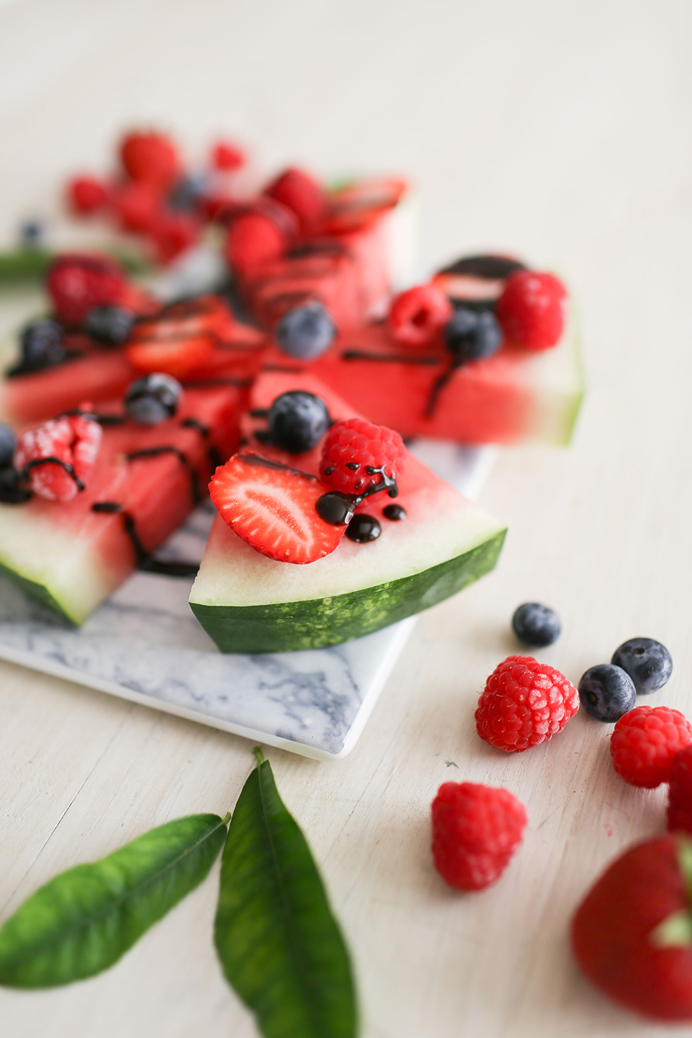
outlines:
[[[324,492],[315,476],[258,455],[236,455],[210,483],[221,518],[255,551],[281,563],[313,563],[338,545],[345,526],[319,515]]]

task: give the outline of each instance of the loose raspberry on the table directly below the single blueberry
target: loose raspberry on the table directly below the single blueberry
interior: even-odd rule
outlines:
[[[498,749],[520,754],[561,732],[578,709],[579,692],[554,666],[507,656],[486,682],[476,731]]]

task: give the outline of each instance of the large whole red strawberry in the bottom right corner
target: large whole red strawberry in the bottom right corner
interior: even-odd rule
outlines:
[[[591,887],[572,923],[588,979],[657,1020],[692,1020],[692,843],[637,844]]]

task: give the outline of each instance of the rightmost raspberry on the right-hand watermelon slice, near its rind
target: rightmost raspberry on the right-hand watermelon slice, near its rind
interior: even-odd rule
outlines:
[[[566,289],[554,274],[517,270],[504,282],[497,317],[508,339],[527,350],[549,350],[562,337]]]

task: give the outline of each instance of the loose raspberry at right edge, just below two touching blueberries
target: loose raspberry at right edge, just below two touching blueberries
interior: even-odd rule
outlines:
[[[631,786],[655,789],[668,782],[675,754],[692,743],[692,726],[670,707],[635,707],[610,736],[613,767]]]

